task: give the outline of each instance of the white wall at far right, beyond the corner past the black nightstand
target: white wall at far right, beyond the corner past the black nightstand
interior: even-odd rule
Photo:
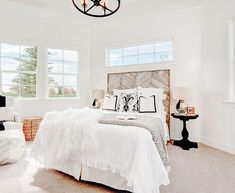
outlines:
[[[203,138],[205,144],[235,153],[235,108],[225,103],[229,84],[229,20],[235,18],[233,0],[202,3]]]

